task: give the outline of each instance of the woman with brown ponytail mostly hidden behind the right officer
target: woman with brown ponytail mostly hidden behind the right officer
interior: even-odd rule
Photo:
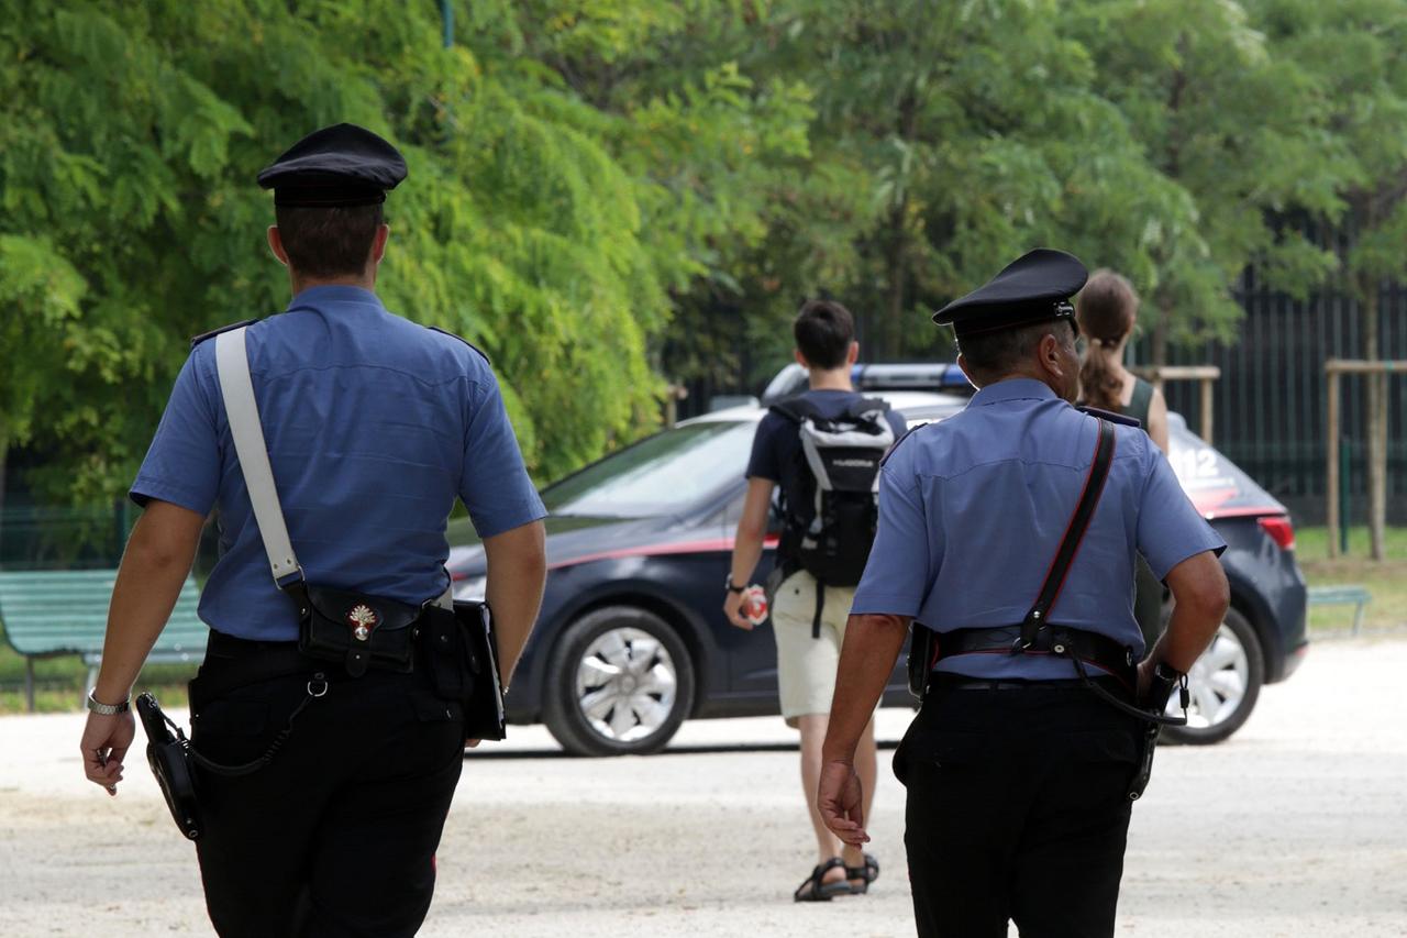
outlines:
[[[1138,294],[1113,270],[1095,270],[1075,299],[1075,320],[1085,337],[1079,368],[1083,403],[1138,420],[1168,452],[1168,401],[1162,392],[1124,368],[1124,346],[1138,321]],[[1162,583],[1140,556],[1134,618],[1151,648],[1162,632]]]

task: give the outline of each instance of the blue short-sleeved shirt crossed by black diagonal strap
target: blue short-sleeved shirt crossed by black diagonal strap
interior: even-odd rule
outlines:
[[[1135,654],[1134,554],[1158,579],[1225,542],[1193,508],[1142,430],[1116,425],[1099,507],[1048,621],[1107,635]],[[923,427],[879,479],[879,530],[853,613],[909,615],[938,632],[1016,625],[1040,593],[1083,490],[1099,421],[1037,380],[989,384]],[[1074,677],[1047,655],[955,655],[974,677]]]

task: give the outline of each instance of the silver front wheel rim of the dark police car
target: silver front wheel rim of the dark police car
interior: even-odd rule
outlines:
[[[577,707],[604,739],[639,742],[658,732],[678,694],[664,644],[639,628],[598,635],[577,663]]]

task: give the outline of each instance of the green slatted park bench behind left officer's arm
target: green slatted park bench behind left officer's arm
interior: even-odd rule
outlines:
[[[97,679],[107,632],[107,604],[117,570],[0,570],[0,625],[24,655],[24,699],[34,711],[34,659],[82,655],[89,668],[84,694]],[[196,615],[200,592],[186,577],[176,608],[146,663],[198,663],[210,628]]]

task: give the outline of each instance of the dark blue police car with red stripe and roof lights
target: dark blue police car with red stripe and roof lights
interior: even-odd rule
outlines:
[[[961,394],[889,389],[905,382],[874,372],[857,380],[910,424],[943,420],[967,403]],[[550,572],[514,676],[512,723],[546,723],[573,753],[619,755],[663,748],[685,718],[778,713],[772,637],[733,628],[722,613],[743,472],[764,413],[750,404],[681,423],[542,493],[552,513]],[[1231,610],[1190,675],[1192,720],[1175,734],[1216,742],[1245,723],[1262,684],[1283,680],[1301,659],[1304,577],[1285,507],[1176,415],[1171,437],[1183,487],[1230,545],[1223,565]],[[453,528],[452,544],[466,544],[450,554],[456,594],[481,596],[483,551],[467,524],[456,524],[463,527]],[[884,703],[912,704],[902,661]]]

